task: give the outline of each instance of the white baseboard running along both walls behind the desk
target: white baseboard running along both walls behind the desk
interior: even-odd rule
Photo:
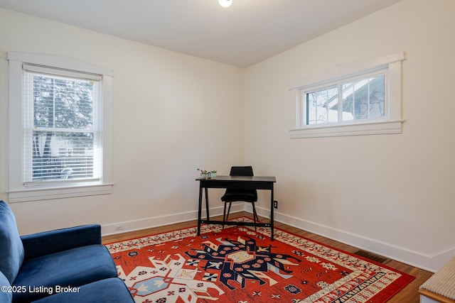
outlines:
[[[266,218],[270,216],[269,209],[257,207],[256,210],[259,216],[264,216]],[[231,213],[238,211],[248,211],[252,213],[252,208],[249,204],[232,205]],[[218,216],[220,214],[223,214],[223,206],[218,206],[210,209],[210,216]],[[204,216],[205,211],[203,211],[203,217]],[[116,233],[125,233],[128,231],[139,231],[145,228],[177,224],[195,219],[198,219],[198,211],[188,211],[186,213],[171,214],[168,216],[156,216],[141,220],[124,221],[116,224],[106,224],[102,226],[102,235],[108,236]],[[436,255],[425,255],[417,251],[407,250],[406,248],[393,246],[389,243],[384,243],[375,239],[365,238],[363,236],[341,231],[336,228],[323,226],[311,221],[281,214],[277,211],[274,212],[274,221],[281,222],[289,226],[294,226],[311,233],[316,233],[319,236],[346,243],[359,249],[368,250],[371,253],[383,255],[387,258],[391,258],[393,260],[397,260],[417,268],[422,268],[430,272],[437,272],[437,270],[442,268],[442,266],[449,262],[449,260],[455,255],[455,248],[446,250]]]

